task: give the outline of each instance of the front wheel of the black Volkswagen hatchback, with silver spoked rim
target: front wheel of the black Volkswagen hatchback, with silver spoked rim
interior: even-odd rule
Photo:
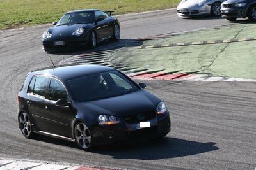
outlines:
[[[92,150],[93,145],[93,139],[92,139],[92,133],[90,132],[90,129],[84,124],[83,122],[77,122],[74,128],[74,137],[76,140],[77,145],[82,150]]]

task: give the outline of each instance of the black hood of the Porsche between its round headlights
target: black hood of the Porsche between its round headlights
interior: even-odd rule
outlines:
[[[86,25],[89,24],[60,25],[52,27],[49,29],[49,32],[52,34],[52,37],[71,36],[73,32],[77,31],[77,29],[85,27]]]

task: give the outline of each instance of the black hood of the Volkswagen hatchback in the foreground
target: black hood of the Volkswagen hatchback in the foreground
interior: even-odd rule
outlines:
[[[87,111],[97,115],[115,115],[117,117],[127,117],[135,113],[156,110],[157,104],[161,100],[150,94],[146,90],[138,90],[122,96],[100,99],[81,103]]]

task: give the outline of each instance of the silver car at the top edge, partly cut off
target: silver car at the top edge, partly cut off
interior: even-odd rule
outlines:
[[[177,7],[177,15],[193,17],[197,15],[221,15],[221,3],[225,0],[182,0]]]

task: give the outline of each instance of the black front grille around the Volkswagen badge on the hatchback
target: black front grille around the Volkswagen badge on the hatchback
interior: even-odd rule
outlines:
[[[156,117],[156,111],[155,110],[143,112],[142,113],[143,116],[144,116],[143,120],[140,120],[138,118],[138,114],[139,113],[136,113],[136,114],[128,116],[128,117],[123,117],[123,119],[127,124],[134,124],[134,123],[138,123],[138,122],[145,122],[145,121],[151,120],[152,118]]]

